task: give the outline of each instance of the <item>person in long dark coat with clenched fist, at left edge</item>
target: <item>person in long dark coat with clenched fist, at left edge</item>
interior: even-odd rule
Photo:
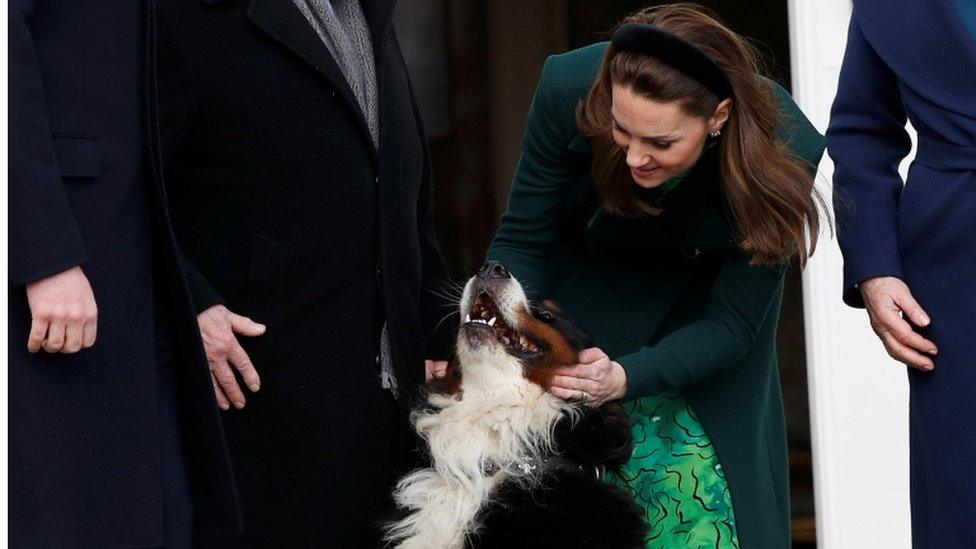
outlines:
[[[189,547],[240,511],[157,178],[152,10],[9,10],[11,547]]]

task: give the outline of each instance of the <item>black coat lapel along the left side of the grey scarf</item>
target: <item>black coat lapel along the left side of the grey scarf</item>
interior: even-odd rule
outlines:
[[[349,87],[345,75],[339,69],[339,65],[329,52],[329,48],[322,43],[319,35],[316,34],[308,20],[295,6],[293,0],[251,0],[247,8],[247,17],[259,29],[311,65],[316,72],[332,84],[336,94],[342,97],[346,106],[356,117],[363,137],[373,149],[369,126],[366,124],[362,109],[359,108],[356,96],[353,95],[352,88]],[[367,21],[369,21],[368,14]],[[369,22],[372,30],[372,22]],[[375,44],[375,31],[373,36]],[[373,49],[380,51],[375,46]],[[375,152],[373,149],[374,157]]]

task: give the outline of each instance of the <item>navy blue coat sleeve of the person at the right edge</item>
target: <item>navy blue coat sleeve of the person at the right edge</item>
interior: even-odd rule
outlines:
[[[844,255],[844,301],[864,307],[857,284],[902,276],[898,253],[898,165],[911,150],[895,75],[851,19],[827,130],[834,160],[834,210]]]

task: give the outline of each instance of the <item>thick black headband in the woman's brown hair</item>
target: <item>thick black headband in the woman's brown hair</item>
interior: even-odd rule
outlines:
[[[714,59],[698,46],[645,23],[627,23],[613,33],[613,46],[656,57],[678,71],[694,78],[719,97],[732,97],[732,84]]]

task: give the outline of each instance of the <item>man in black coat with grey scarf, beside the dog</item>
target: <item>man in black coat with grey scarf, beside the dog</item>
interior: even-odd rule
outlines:
[[[160,7],[171,213],[244,510],[227,546],[374,546],[451,348],[393,2]]]

